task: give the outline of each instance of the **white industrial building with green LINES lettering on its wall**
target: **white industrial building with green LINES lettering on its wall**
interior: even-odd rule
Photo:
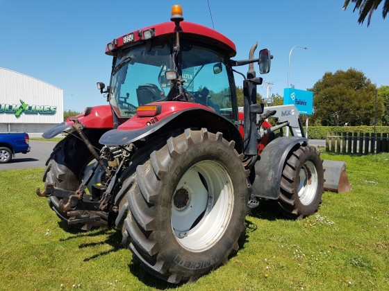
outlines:
[[[63,122],[63,89],[0,68],[0,132],[42,133]]]

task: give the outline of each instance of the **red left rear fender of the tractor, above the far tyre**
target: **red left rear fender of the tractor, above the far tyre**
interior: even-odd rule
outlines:
[[[84,113],[76,116],[76,118],[88,128],[113,128],[113,116],[110,105],[87,107]],[[70,121],[70,117],[67,118],[66,123],[69,126],[74,125],[74,122]]]

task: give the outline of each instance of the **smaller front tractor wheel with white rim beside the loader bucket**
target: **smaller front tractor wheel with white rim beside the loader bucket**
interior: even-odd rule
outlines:
[[[279,206],[289,218],[301,219],[315,213],[322,202],[324,170],[320,152],[300,146],[285,162]]]

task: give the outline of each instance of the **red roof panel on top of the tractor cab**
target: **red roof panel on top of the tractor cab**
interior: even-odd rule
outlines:
[[[176,24],[174,22],[164,22],[162,24],[156,24],[154,26],[149,26],[146,28],[142,28],[140,30],[135,30],[131,33],[127,33],[126,35],[122,35],[121,37],[118,37],[117,39],[114,39],[113,46],[115,48],[119,48],[121,46],[127,46],[131,45],[133,43],[139,42],[143,40],[143,31],[152,29],[154,30],[154,37],[158,37],[160,35],[167,35],[167,34],[174,34],[174,28],[176,27]],[[182,28],[182,33],[191,34],[192,36],[198,36],[198,37],[207,37],[208,42],[210,42],[213,46],[221,46],[221,48],[226,51],[226,53],[229,54],[229,57],[232,58],[236,55],[236,46],[235,44],[229,39],[228,37],[222,35],[221,33],[218,33],[216,30],[213,30],[211,28],[208,28],[206,26],[202,26],[200,24],[194,24],[192,22],[188,21],[181,21],[180,27]],[[132,35],[131,35],[132,34]],[[126,42],[124,44],[124,37],[128,38],[128,36],[131,35],[131,38],[133,40]],[[116,43],[116,44],[115,44]],[[108,49],[108,46],[106,47],[106,54],[107,55],[114,55],[114,53],[111,53]]]

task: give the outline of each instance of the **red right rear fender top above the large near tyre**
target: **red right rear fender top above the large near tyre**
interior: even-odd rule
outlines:
[[[215,112],[214,109],[206,107],[197,103],[180,102],[180,101],[165,101],[165,102],[153,102],[148,105],[157,105],[160,107],[160,113],[156,116],[140,117],[137,115],[130,118],[128,121],[117,127],[118,130],[138,130],[142,127],[158,123],[163,118],[171,116],[176,112],[180,112],[185,109],[201,108],[211,112]]]

